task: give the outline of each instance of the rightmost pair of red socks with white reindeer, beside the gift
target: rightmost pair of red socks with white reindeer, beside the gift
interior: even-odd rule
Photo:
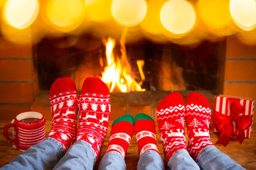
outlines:
[[[210,111],[210,103],[196,92],[186,98],[186,110],[183,97],[177,92],[159,103],[157,122],[166,162],[177,150],[186,149],[185,121],[188,128],[187,150],[193,159],[196,160],[204,147],[213,145],[209,135]]]

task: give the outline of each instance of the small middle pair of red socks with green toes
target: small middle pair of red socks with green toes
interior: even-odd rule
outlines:
[[[134,118],[132,115],[127,114],[114,120],[107,152],[119,152],[122,157],[125,157],[134,133],[137,139],[139,157],[142,157],[142,154],[148,150],[159,153],[156,145],[154,120],[144,113],[139,113]]]

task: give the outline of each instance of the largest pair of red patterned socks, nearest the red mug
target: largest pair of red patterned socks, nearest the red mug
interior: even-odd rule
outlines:
[[[67,151],[75,141],[88,142],[99,157],[110,120],[110,92],[99,78],[88,77],[82,84],[80,97],[75,82],[56,79],[50,88],[53,124],[48,137],[53,137]],[[78,108],[80,118],[77,130]]]

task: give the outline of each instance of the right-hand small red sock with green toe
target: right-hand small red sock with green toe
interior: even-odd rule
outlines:
[[[139,158],[148,150],[159,153],[156,145],[156,126],[149,115],[144,113],[135,115],[134,132],[138,143]]]

